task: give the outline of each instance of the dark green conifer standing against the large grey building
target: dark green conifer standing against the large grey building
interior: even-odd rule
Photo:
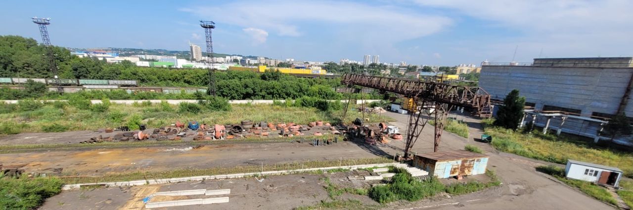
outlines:
[[[524,106],[525,97],[519,96],[516,89],[510,91],[505,100],[503,100],[503,105],[499,107],[494,125],[516,131],[523,117]]]

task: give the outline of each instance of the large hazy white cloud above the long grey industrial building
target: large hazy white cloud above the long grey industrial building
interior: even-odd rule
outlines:
[[[413,0],[423,8],[442,8],[487,20],[499,28],[520,32],[491,43],[472,40],[470,48],[509,61],[543,57],[630,55],[633,42],[633,1],[630,0]],[[509,55],[508,55],[509,54]]]

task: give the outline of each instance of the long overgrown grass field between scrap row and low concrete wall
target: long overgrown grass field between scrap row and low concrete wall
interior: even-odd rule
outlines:
[[[237,124],[242,120],[273,123],[294,122],[298,124],[323,120],[334,123],[342,117],[342,110],[321,111],[309,107],[279,107],[265,104],[234,104],[230,110],[211,111],[210,108],[203,108],[196,103],[175,106],[168,103],[142,102],[136,106],[111,104],[106,110],[99,109],[99,112],[95,112],[91,111],[90,105],[86,105],[82,100],[77,100],[70,106],[54,103],[41,103],[39,106],[32,105],[32,103],[38,102],[27,103],[29,104],[28,111],[20,111],[15,108],[15,105],[0,103],[0,110],[6,110],[6,112],[0,112],[2,113],[0,119],[3,119],[3,122],[0,122],[0,134],[61,131],[63,127],[67,127],[68,131],[91,131],[122,125],[130,126],[130,129],[137,129],[139,124],[147,124],[148,127],[162,127],[173,124],[176,120],[181,122],[197,120],[201,124]],[[200,109],[197,110],[190,106]],[[216,107],[215,105],[209,106]],[[180,112],[174,112],[174,110]],[[348,112],[345,120],[351,122],[360,116],[361,113]],[[379,122],[379,115],[366,114],[367,116],[370,122]],[[381,118],[385,120],[384,116]]]

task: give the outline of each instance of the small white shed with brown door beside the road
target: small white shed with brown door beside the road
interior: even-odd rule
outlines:
[[[618,187],[623,173],[620,168],[576,160],[567,160],[567,166],[565,166],[565,177],[567,178],[613,187]]]

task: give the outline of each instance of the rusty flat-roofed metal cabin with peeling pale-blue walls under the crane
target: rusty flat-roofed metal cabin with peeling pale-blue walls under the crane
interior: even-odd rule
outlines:
[[[413,166],[422,168],[437,178],[449,178],[486,173],[488,158],[487,155],[465,150],[444,151],[416,155]]]

